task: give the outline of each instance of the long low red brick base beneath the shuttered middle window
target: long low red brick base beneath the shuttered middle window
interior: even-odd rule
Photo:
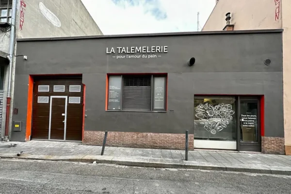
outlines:
[[[102,146],[105,131],[84,131],[83,144]],[[107,134],[106,146],[185,149],[185,134],[114,132]],[[194,135],[189,134],[189,150],[194,149]]]

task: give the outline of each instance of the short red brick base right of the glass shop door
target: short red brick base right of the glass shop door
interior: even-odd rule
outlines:
[[[262,137],[262,152],[265,154],[285,154],[284,137]]]

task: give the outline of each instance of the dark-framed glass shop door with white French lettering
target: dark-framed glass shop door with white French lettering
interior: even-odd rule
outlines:
[[[238,150],[260,151],[260,112],[257,97],[239,97]]]

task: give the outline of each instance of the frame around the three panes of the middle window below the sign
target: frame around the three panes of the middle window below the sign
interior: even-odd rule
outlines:
[[[151,104],[150,104],[150,110],[123,110],[122,105],[123,105],[123,87],[124,87],[124,76],[138,76],[138,75],[148,75],[151,76]],[[109,109],[109,81],[111,76],[120,76],[121,78],[121,88],[120,88],[120,110],[115,109]],[[164,109],[154,109],[154,78],[155,77],[162,77],[164,78]],[[109,112],[149,112],[149,113],[166,113],[167,112],[167,81],[168,81],[168,74],[167,73],[148,73],[148,74],[107,74],[107,88],[106,88],[106,111]]]

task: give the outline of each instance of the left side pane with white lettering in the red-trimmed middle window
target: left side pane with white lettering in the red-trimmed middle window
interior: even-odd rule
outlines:
[[[108,88],[108,109],[120,110],[121,76],[110,76]]]

